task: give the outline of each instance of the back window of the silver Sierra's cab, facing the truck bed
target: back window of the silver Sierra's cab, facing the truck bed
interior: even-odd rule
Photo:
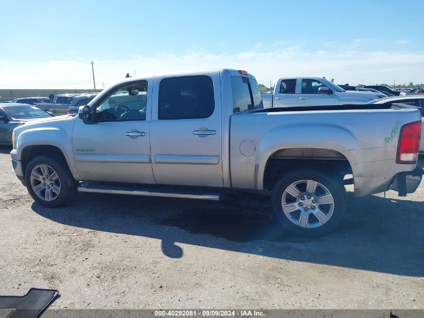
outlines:
[[[234,113],[263,108],[256,80],[244,76],[231,76],[231,88]]]

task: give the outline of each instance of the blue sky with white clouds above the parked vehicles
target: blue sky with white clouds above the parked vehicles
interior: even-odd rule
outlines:
[[[91,60],[106,86],[134,70],[217,67],[266,85],[301,75],[421,83],[421,9],[390,0],[2,0],[0,88],[89,88]]]

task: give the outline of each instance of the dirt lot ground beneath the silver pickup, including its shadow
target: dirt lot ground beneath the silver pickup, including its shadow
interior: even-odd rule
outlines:
[[[60,291],[51,308],[424,308],[424,185],[353,199],[344,225],[302,239],[268,201],[80,193],[33,202],[0,148],[0,294]],[[424,158],[420,159],[424,164]],[[385,205],[385,211],[384,211]]]

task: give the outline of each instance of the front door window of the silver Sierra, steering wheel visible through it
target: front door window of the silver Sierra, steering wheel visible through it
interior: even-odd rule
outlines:
[[[95,121],[144,121],[146,104],[147,81],[120,86],[96,105]]]

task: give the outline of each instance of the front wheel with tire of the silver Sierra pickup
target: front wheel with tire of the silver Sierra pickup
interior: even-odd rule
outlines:
[[[51,178],[45,180],[46,176]],[[32,159],[25,169],[25,181],[33,199],[46,207],[62,206],[77,192],[77,182],[71,171],[63,160],[56,157],[38,156]]]

